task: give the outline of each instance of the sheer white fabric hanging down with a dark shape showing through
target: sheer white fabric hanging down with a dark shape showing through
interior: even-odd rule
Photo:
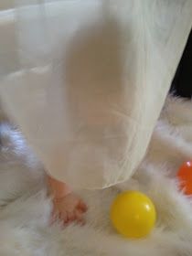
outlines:
[[[84,188],[123,182],[144,157],[192,1],[48,2],[18,1],[17,70],[0,83],[5,109],[51,176]]]

